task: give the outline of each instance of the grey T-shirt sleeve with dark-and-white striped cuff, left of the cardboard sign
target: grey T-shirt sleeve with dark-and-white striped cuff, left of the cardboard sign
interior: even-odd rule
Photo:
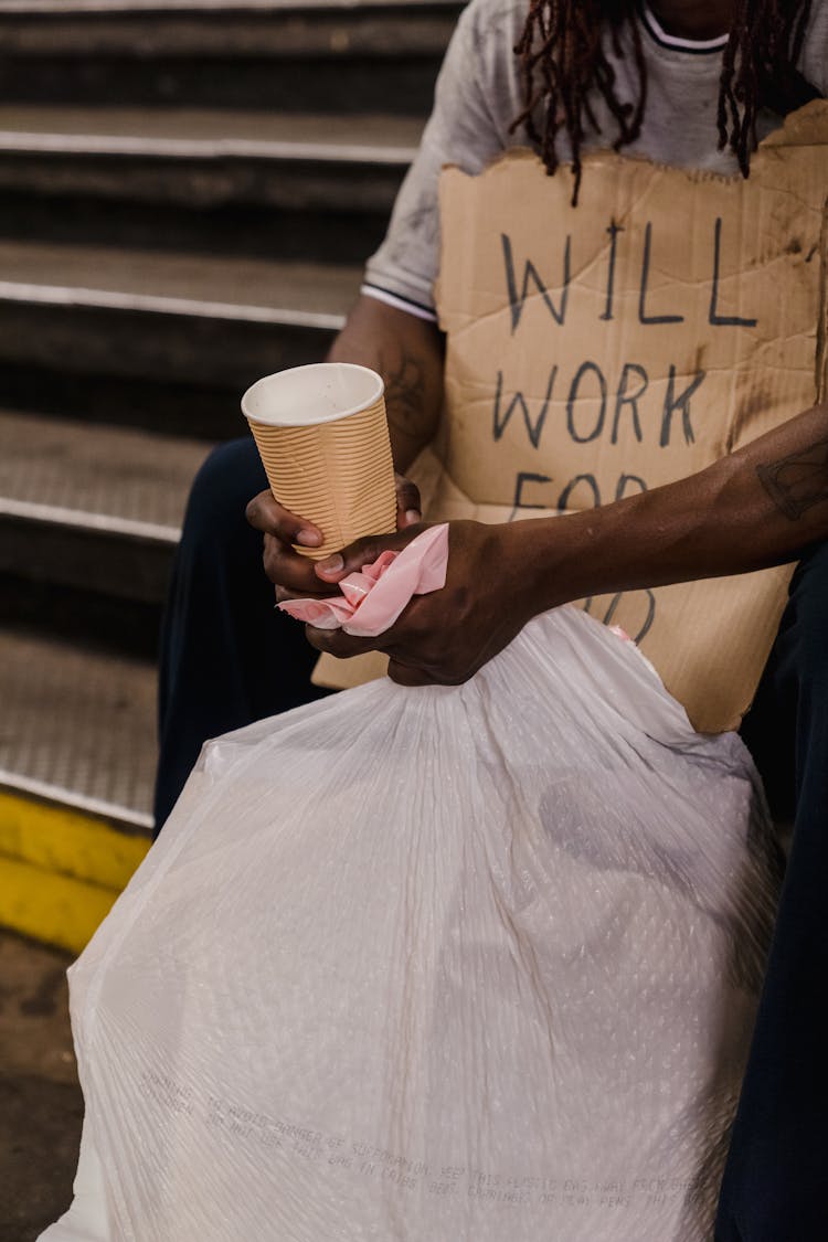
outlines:
[[[444,164],[479,173],[506,140],[493,114],[497,91],[480,52],[479,0],[463,10],[443,61],[434,107],[417,156],[400,188],[385,241],[367,261],[362,292],[433,319],[433,284],[439,266],[437,183]],[[505,48],[511,55],[511,48]],[[492,50],[487,48],[490,56]],[[493,83],[490,83],[493,86]]]

